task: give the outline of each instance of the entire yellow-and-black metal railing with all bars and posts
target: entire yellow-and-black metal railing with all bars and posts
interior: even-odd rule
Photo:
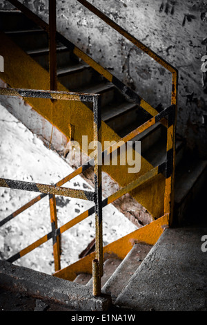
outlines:
[[[24,89],[0,89],[0,95],[21,95],[23,97],[41,97],[41,98],[50,98],[50,100],[79,100],[79,101],[92,101],[94,103],[94,129],[95,129],[95,141],[101,140],[100,130],[101,130],[101,118],[99,114],[99,96],[94,94],[79,94],[79,93],[64,93],[55,91],[56,89],[56,82],[57,82],[57,73],[56,73],[56,48],[55,48],[55,28],[52,27],[52,24],[56,24],[55,21],[55,0],[49,1],[50,2],[50,17],[49,17],[49,25],[46,24],[45,21],[40,19],[37,15],[34,15],[26,6],[23,6],[17,0],[9,0],[14,6],[16,6],[19,10],[21,10],[28,18],[32,19],[34,23],[39,25],[41,28],[46,30],[49,35],[49,46],[50,46],[50,91],[33,91],[33,90],[24,90]],[[122,82],[117,80],[117,78],[109,73],[106,69],[101,67],[95,60],[90,58],[86,53],[83,53],[77,46],[74,46],[68,39],[63,37],[59,32],[56,32],[56,36],[61,41],[63,45],[70,48],[70,50],[77,56],[79,56],[83,61],[88,63],[92,68],[94,68],[97,72],[99,72],[103,77],[115,86],[125,95],[128,95],[134,102],[139,104],[142,109],[148,111],[152,118],[142,124],[140,127],[137,127],[134,131],[130,132],[127,136],[122,138],[120,143],[126,143],[132,138],[135,138],[139,133],[148,129],[148,127],[154,125],[157,122],[161,122],[167,128],[167,146],[166,146],[166,161],[157,167],[152,168],[150,171],[146,172],[146,174],[140,176],[136,180],[132,181],[132,183],[126,185],[125,187],[119,189],[116,193],[110,195],[108,198],[105,198],[103,201],[101,199],[101,167],[97,163],[97,156],[95,156],[95,161],[88,160],[88,163],[77,168],[73,171],[70,175],[66,176],[62,180],[60,180],[56,185],[43,185],[37,183],[28,183],[28,182],[21,182],[21,181],[14,181],[14,180],[6,180],[0,178],[0,186],[1,187],[11,187],[11,188],[19,188],[25,190],[32,190],[34,192],[40,192],[39,196],[33,198],[30,202],[23,205],[17,211],[13,212],[5,219],[0,221],[0,226],[4,225],[8,221],[12,220],[15,216],[19,215],[21,212],[25,211],[28,207],[32,206],[34,203],[37,203],[41,200],[41,198],[49,195],[49,202],[50,202],[50,219],[52,225],[52,231],[46,234],[45,236],[41,237],[28,247],[24,248],[20,252],[17,252],[12,257],[8,259],[8,261],[13,262],[23,257],[24,255],[28,254],[35,248],[39,247],[39,245],[46,243],[46,241],[52,239],[53,241],[53,252],[54,252],[54,259],[55,259],[55,270],[60,269],[60,252],[59,252],[59,239],[63,232],[70,229],[72,226],[76,225],[77,223],[81,222],[83,219],[86,219],[88,216],[95,213],[95,220],[96,220],[96,259],[93,261],[92,270],[93,270],[93,278],[94,286],[93,286],[93,293],[94,295],[101,294],[101,275],[103,275],[103,241],[102,241],[102,208],[106,205],[114,202],[117,198],[120,198],[122,195],[132,191],[143,183],[147,182],[148,180],[152,179],[153,177],[157,176],[160,173],[164,173],[166,177],[165,183],[165,198],[164,198],[164,215],[168,216],[169,224],[172,223],[172,208],[173,208],[173,187],[174,187],[174,174],[175,174],[175,127],[176,127],[176,112],[177,112],[177,70],[168,64],[164,59],[161,59],[156,53],[150,50],[148,47],[144,46],[140,41],[132,37],[126,30],[115,24],[114,21],[109,19],[106,15],[102,12],[97,10],[94,6],[92,6],[86,0],[78,0],[79,3],[82,3],[83,6],[86,6],[90,11],[94,12],[95,15],[100,17],[106,24],[109,24],[112,28],[117,30],[121,35],[124,35],[127,39],[132,41],[137,47],[144,50],[145,53],[150,55],[155,61],[159,64],[164,66],[170,73],[172,73],[172,95],[171,95],[171,106],[167,107],[160,113],[154,109],[148,102],[146,102],[143,98],[141,98],[137,93],[132,91],[128,86],[124,85]],[[52,9],[53,8],[53,9]],[[52,11],[53,10],[53,11]],[[51,13],[52,12],[52,13]],[[52,53],[54,57],[52,56]],[[53,77],[52,77],[53,76]],[[99,132],[98,132],[99,131]],[[117,143],[119,146],[119,142]],[[105,154],[111,154],[112,151],[117,149],[117,145],[109,147],[106,151],[102,152],[102,156]],[[92,192],[75,192],[73,189],[67,189],[62,187],[62,185],[68,180],[71,180],[75,176],[81,174],[84,170],[88,169],[92,163],[95,163],[95,195]],[[83,212],[75,219],[68,221],[68,223],[62,225],[58,228],[57,225],[57,212],[56,212],[56,201],[55,195],[66,195],[89,199],[90,201],[95,201],[95,206],[91,207],[89,210]],[[97,267],[98,266],[98,267]]]

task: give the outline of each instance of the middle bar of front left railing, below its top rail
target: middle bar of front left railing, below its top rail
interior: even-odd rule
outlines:
[[[0,187],[21,189],[23,191],[40,192],[45,194],[69,196],[70,198],[80,198],[81,200],[87,201],[94,201],[95,198],[94,192],[84,191],[83,189],[71,189],[67,187],[58,187],[55,185],[25,182],[23,180],[11,180],[8,178],[0,178]]]

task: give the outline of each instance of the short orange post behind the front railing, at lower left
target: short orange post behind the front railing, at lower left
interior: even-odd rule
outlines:
[[[50,202],[50,221],[52,226],[52,245],[53,245],[53,256],[55,262],[55,272],[59,271],[61,268],[60,263],[60,238],[57,236],[57,210],[56,210],[56,200],[54,194],[49,194]]]

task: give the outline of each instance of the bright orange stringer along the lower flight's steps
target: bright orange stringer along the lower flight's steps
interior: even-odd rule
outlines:
[[[168,227],[168,216],[164,215],[156,221],[152,221],[150,224],[123,236],[121,239],[113,241],[103,247],[103,261],[109,257],[124,259],[133,245],[138,242],[155,245],[166,227]],[[92,274],[93,259],[95,259],[95,252],[55,272],[53,275],[61,279],[73,281],[80,273]]]

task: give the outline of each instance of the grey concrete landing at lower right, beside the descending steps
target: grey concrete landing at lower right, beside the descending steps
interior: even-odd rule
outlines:
[[[164,230],[115,305],[131,310],[207,310],[207,227]]]

